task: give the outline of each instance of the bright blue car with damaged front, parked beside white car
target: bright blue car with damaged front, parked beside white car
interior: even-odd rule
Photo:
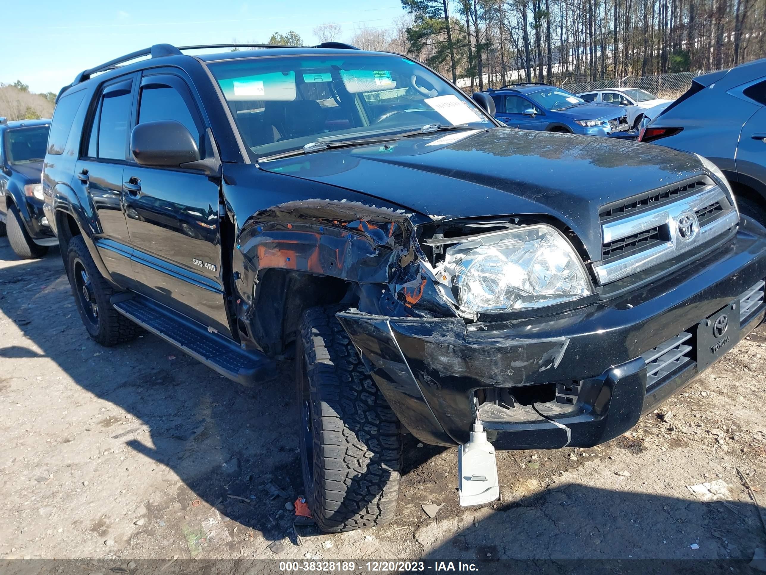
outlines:
[[[514,128],[591,136],[624,136],[630,125],[625,108],[586,102],[549,84],[509,84],[489,90],[495,117]]]

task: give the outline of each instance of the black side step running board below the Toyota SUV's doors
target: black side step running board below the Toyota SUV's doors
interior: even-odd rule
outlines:
[[[273,361],[263,353],[242,350],[228,337],[211,333],[197,321],[146,297],[119,294],[111,303],[120,314],[230,380],[252,386],[274,373]]]

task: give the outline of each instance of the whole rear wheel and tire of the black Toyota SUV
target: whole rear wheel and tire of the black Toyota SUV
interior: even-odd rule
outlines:
[[[77,235],[67,249],[67,275],[77,311],[88,334],[103,346],[133,340],[141,328],[119,314],[110,303],[115,294],[90,257],[83,236]]]

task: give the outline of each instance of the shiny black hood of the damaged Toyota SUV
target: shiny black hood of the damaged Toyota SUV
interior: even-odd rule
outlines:
[[[653,144],[496,128],[434,133],[260,164],[394,202],[437,220],[545,214],[601,258],[598,208],[701,173]]]

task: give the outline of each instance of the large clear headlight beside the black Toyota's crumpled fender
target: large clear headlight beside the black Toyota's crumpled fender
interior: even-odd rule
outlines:
[[[463,316],[529,310],[593,293],[578,253],[550,225],[454,238],[451,243],[435,271],[450,286]]]

